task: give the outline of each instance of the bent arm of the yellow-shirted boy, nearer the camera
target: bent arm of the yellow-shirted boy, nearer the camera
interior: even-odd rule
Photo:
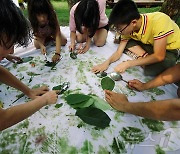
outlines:
[[[124,72],[126,69],[133,66],[143,66],[143,65],[149,65],[163,61],[166,56],[166,44],[167,44],[167,37],[164,37],[159,40],[154,40],[153,54],[148,55],[144,58],[123,62],[114,68],[115,71]]]

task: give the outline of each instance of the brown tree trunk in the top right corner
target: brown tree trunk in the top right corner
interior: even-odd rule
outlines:
[[[180,17],[180,0],[165,0],[160,11],[177,21]]]

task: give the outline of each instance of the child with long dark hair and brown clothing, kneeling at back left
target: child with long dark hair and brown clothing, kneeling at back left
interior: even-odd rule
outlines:
[[[53,62],[60,60],[61,45],[66,45],[67,39],[61,33],[56,13],[50,0],[29,0],[29,20],[35,35],[34,46],[46,54],[46,45],[50,41],[56,42],[56,52]]]

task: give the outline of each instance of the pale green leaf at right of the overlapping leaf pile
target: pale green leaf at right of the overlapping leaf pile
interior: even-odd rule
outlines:
[[[96,107],[101,110],[111,110],[112,107],[104,99],[99,98],[98,96],[91,96],[95,101],[93,107]]]

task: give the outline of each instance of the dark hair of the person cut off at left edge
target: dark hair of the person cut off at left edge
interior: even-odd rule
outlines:
[[[12,0],[1,0],[0,45],[7,49],[15,44],[27,46],[30,38],[30,27],[21,10]]]

